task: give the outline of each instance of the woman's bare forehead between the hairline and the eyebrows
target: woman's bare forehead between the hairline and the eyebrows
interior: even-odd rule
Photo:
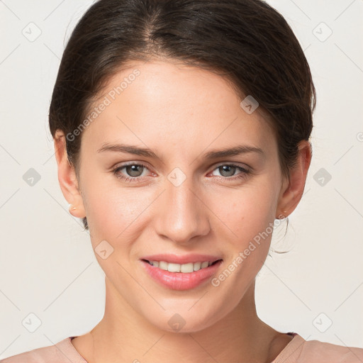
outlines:
[[[116,140],[184,149],[273,142],[263,114],[247,113],[228,81],[174,62],[128,64],[108,80],[92,111],[82,144],[94,149]]]

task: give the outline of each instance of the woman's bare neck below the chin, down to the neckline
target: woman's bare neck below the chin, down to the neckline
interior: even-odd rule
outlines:
[[[217,323],[193,333],[174,333],[148,323],[106,277],[104,318],[83,343],[73,340],[72,344],[89,363],[269,363],[279,353],[272,352],[277,335],[281,333],[257,316],[255,280],[238,306]]]

